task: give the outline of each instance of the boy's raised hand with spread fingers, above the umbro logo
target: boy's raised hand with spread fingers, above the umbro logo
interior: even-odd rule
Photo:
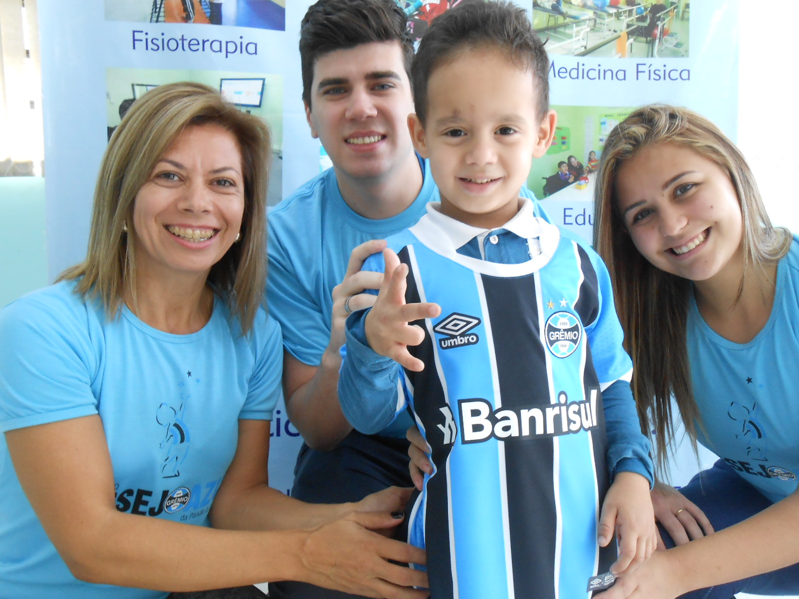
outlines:
[[[393,359],[410,371],[419,372],[424,363],[407,351],[409,345],[419,345],[424,331],[414,320],[435,318],[441,314],[437,303],[405,303],[407,265],[391,249],[383,250],[386,269],[383,283],[372,310],[366,315],[364,329],[369,347],[380,355]]]

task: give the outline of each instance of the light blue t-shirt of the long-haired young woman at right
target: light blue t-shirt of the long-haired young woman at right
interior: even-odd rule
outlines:
[[[705,430],[698,441],[767,498],[793,493],[799,476],[799,238],[777,264],[769,320],[749,343],[711,329],[691,298],[688,355]]]

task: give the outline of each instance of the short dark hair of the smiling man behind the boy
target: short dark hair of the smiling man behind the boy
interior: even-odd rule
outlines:
[[[308,8],[300,23],[300,64],[302,99],[309,107],[316,59],[370,42],[398,42],[410,76],[413,42],[394,0],[319,0]]]

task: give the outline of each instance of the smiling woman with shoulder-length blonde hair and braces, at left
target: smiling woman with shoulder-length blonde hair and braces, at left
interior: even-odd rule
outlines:
[[[85,261],[0,312],[2,597],[285,578],[425,596],[406,588],[423,573],[388,562],[423,554],[366,530],[400,521],[403,491],[311,506],[267,485],[269,150],[213,89],[145,94],[102,161]]]

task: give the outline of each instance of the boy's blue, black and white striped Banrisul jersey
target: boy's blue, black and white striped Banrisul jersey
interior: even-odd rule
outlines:
[[[389,240],[407,302],[442,309],[417,322],[425,338],[409,351],[425,368],[403,371],[396,406],[432,449],[408,540],[427,549],[435,599],[588,597],[616,557],[596,541],[601,391],[629,380],[630,359],[601,260],[541,224],[542,252],[523,264],[461,256],[426,217]]]

